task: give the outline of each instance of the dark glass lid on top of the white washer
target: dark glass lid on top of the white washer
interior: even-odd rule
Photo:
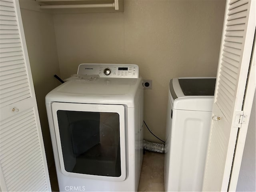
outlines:
[[[186,96],[213,96],[216,78],[179,79],[180,88]]]

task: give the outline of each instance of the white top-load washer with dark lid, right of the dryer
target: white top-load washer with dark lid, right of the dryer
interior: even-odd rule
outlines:
[[[170,80],[165,191],[201,191],[216,78]]]

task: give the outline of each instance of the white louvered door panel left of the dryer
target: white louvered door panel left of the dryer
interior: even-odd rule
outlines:
[[[0,187],[51,191],[18,0],[0,0]]]

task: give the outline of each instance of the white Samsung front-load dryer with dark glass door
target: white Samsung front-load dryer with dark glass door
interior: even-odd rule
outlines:
[[[80,64],[46,96],[60,191],[137,191],[143,86],[133,64]]]

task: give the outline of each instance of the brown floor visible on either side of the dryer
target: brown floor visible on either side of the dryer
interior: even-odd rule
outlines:
[[[52,191],[59,191],[55,167],[49,170]],[[138,191],[164,191],[164,154],[148,152],[143,156]]]

